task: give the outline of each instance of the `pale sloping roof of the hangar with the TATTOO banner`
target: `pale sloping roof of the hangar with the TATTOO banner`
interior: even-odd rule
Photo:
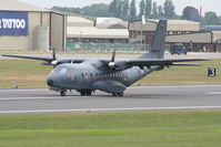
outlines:
[[[49,12],[50,10],[28,4],[18,0],[1,0],[0,11],[33,11]]]

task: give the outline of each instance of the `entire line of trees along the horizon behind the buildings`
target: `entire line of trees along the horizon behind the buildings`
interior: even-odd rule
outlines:
[[[205,12],[202,18],[194,7],[185,7],[182,15],[178,15],[172,0],[165,0],[162,6],[153,0],[140,0],[139,3],[135,0],[112,0],[110,4],[97,3],[83,8],[53,7],[52,9],[91,17],[114,17],[124,21],[140,20],[144,15],[147,19],[183,19],[202,24],[221,24],[221,17],[218,17],[215,12]]]

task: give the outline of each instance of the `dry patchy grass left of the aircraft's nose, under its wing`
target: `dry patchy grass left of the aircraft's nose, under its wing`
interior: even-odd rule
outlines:
[[[39,61],[0,60],[0,88],[46,87],[46,80],[52,66]]]

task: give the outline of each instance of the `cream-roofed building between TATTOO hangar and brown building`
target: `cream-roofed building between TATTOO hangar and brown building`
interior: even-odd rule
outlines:
[[[123,29],[99,28],[97,19],[87,15],[68,15],[68,42],[127,43],[129,32]]]

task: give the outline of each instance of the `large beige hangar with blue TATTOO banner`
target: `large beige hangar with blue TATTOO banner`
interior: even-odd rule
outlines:
[[[0,4],[0,50],[66,49],[66,14],[18,0]]]

